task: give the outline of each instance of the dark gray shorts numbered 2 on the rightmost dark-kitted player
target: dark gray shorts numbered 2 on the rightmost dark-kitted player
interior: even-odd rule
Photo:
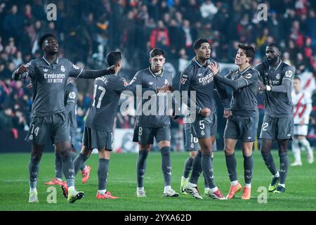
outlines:
[[[292,140],[294,118],[278,118],[265,115],[261,127],[261,139]]]

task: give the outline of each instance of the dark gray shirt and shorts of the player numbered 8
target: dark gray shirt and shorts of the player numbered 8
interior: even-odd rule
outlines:
[[[160,75],[154,75],[151,68],[140,70],[133,77],[130,85],[141,89],[157,89],[165,84],[172,85],[171,72],[163,70]],[[134,127],[133,141],[141,145],[148,145],[159,141],[171,141],[170,116],[168,109],[171,93],[157,93],[157,91],[145,91],[142,99],[138,95],[136,123]],[[159,101],[160,100],[160,101]],[[156,105],[156,109],[152,104]],[[171,102],[172,104],[172,102]]]

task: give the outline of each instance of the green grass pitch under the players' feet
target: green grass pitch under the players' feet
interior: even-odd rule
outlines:
[[[241,151],[236,152],[237,171],[239,182],[244,183],[243,158]],[[278,166],[277,151],[273,152]],[[293,162],[291,153],[290,162]],[[183,172],[183,163],[188,153],[172,153],[172,186],[180,191],[180,177]],[[287,179],[287,192],[284,194],[268,193],[268,203],[258,203],[258,188],[268,188],[271,176],[265,167],[260,153],[254,153],[254,174],[252,184],[252,198],[249,201],[241,200],[242,193],[237,193],[232,200],[212,200],[204,196],[203,200],[196,200],[190,195],[180,193],[178,198],[164,198],[164,188],[161,171],[161,155],[150,153],[147,158],[147,170],[145,174],[145,191],[147,198],[137,198],[136,192],[136,160],[138,155],[131,153],[112,154],[110,160],[109,176],[107,178],[107,190],[113,195],[119,196],[115,200],[98,200],[98,156],[91,155],[87,164],[91,165],[91,176],[86,184],[81,183],[81,174],[78,174],[76,186],[84,191],[85,196],[74,204],[67,203],[62,197],[59,186],[57,188],[57,203],[47,203],[44,183],[54,176],[54,155],[44,153],[41,160],[37,191],[39,203],[28,203],[29,181],[28,162],[29,154],[1,154],[0,155],[0,211],[4,210],[104,210],[104,211],[206,211],[206,210],[315,210],[316,209],[316,167],[315,163],[309,165],[302,155],[302,167],[290,167]],[[225,165],[225,157],[222,151],[214,154],[214,177],[216,184],[224,195],[228,193],[230,181]],[[204,179],[199,179],[199,188],[204,191]]]

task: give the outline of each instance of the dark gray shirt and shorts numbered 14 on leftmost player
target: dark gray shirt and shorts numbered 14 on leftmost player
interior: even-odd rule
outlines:
[[[70,123],[65,112],[65,87],[68,77],[80,77],[83,69],[66,58],[48,63],[43,56],[31,60],[27,72],[33,86],[32,119],[26,140],[44,145],[70,141]]]

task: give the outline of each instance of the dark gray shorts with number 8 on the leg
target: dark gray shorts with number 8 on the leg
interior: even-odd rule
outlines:
[[[159,141],[171,141],[170,126],[164,127],[138,127],[134,128],[133,141],[140,145],[152,145],[156,138]]]

